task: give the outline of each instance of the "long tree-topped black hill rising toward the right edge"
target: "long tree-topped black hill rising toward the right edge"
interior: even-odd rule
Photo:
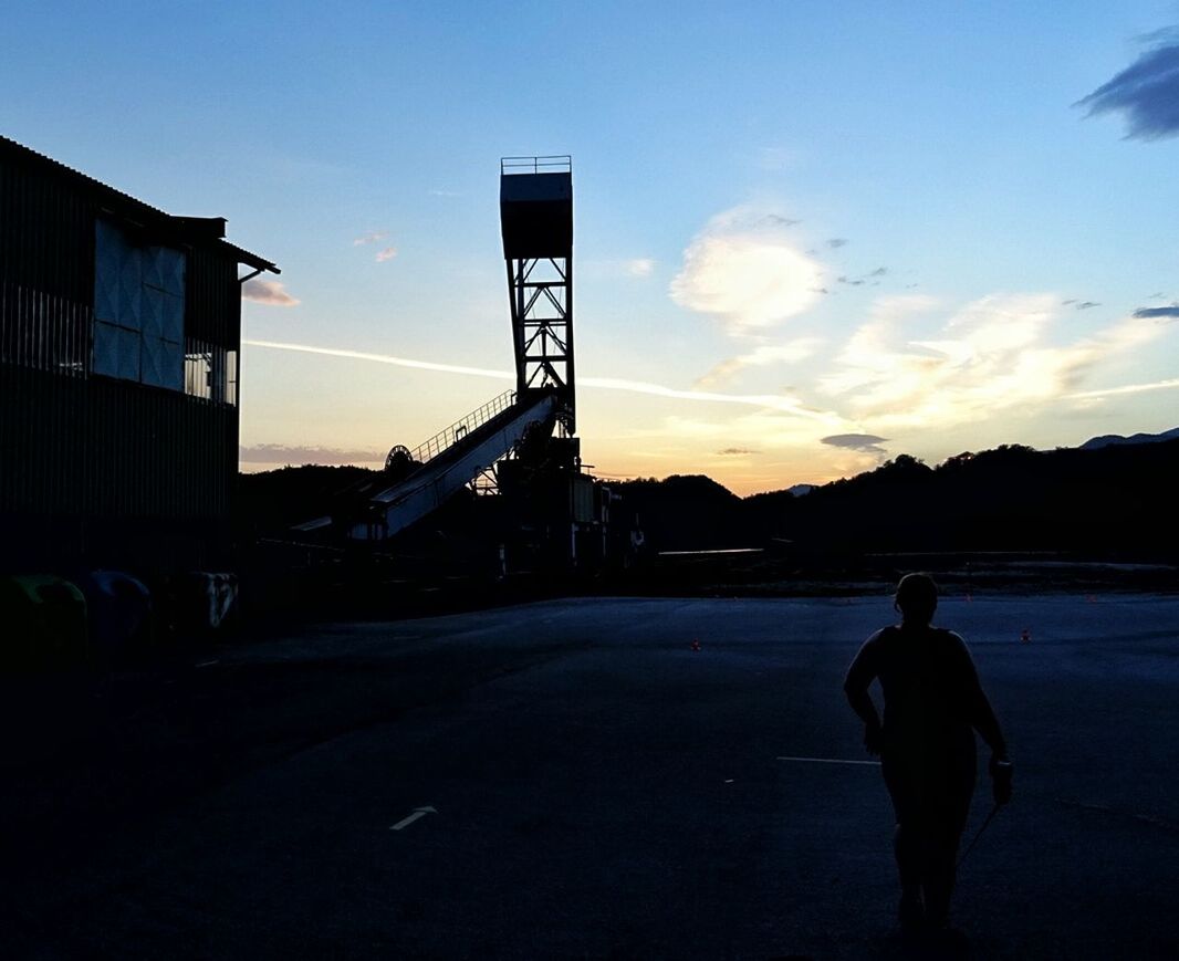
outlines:
[[[1177,481],[1179,441],[1005,445],[934,468],[901,455],[803,498],[762,494],[746,505],[756,529],[830,549],[1170,554]]]

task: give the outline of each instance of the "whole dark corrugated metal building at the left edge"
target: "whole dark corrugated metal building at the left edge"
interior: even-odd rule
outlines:
[[[0,137],[0,565],[229,562],[239,265],[173,217]]]

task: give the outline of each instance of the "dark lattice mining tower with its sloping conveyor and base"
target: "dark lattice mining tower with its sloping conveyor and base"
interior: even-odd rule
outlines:
[[[505,568],[628,561],[641,535],[633,518],[617,522],[618,495],[582,473],[575,436],[572,158],[502,158],[500,225],[515,389],[413,449],[397,445],[378,479],[296,531],[382,545],[468,491],[495,501]]]

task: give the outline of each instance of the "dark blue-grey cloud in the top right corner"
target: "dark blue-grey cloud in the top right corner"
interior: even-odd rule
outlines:
[[[1153,46],[1073,106],[1086,116],[1121,113],[1126,137],[1157,140],[1179,133],[1179,29],[1152,34]]]

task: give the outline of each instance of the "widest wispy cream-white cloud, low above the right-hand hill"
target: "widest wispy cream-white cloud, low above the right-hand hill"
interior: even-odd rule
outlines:
[[[1048,335],[1060,297],[1022,294],[983,297],[934,336],[905,336],[903,322],[931,305],[915,298],[878,302],[819,389],[872,430],[940,429],[1075,396],[1096,366],[1164,333],[1160,324],[1127,317],[1091,337],[1053,345]]]

